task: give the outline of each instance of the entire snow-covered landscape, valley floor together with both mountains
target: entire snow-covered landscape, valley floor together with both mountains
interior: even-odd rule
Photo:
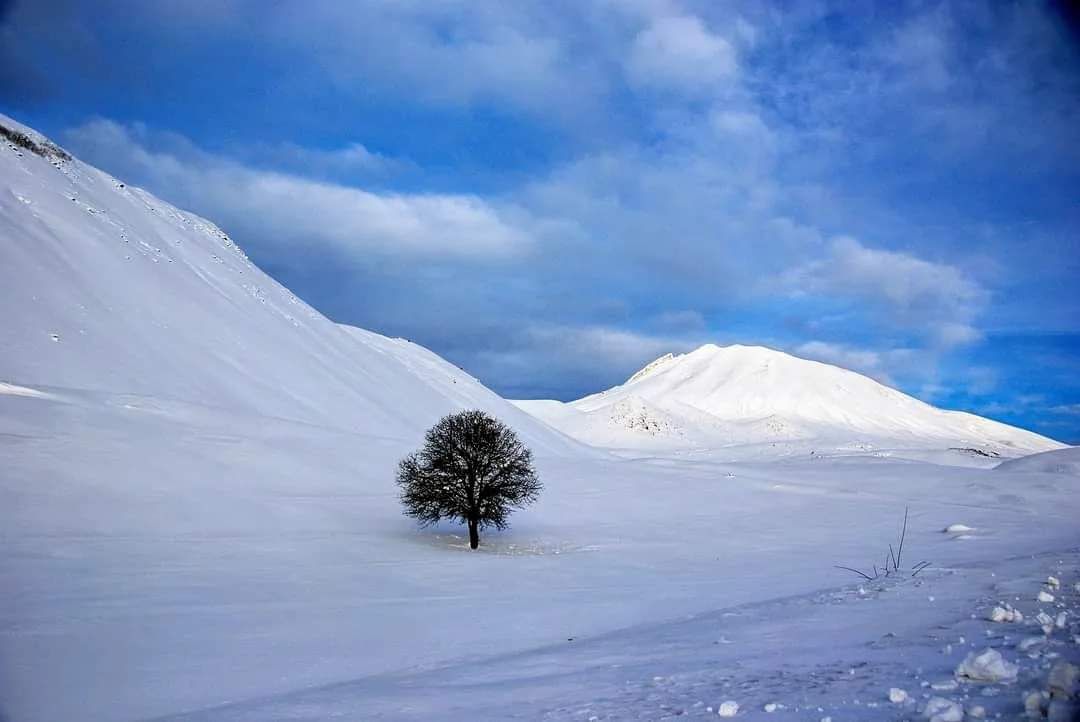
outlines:
[[[42,149],[0,141],[3,722],[893,720],[986,645],[1022,663],[983,703],[1008,718],[1077,659],[1076,449],[758,349],[525,413],[0,124]],[[461,408],[545,485],[476,553],[393,483]],[[835,568],[880,567],[905,507],[904,567],[930,568]],[[1015,651],[1038,626],[984,619],[1000,600],[1067,613],[1041,656]]]

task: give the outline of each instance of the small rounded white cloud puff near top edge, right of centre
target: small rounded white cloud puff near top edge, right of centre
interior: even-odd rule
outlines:
[[[714,88],[737,70],[731,43],[693,15],[654,19],[634,39],[626,59],[633,84],[684,92]]]

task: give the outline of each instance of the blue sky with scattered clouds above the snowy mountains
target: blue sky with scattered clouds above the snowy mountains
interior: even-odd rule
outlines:
[[[764,343],[1080,441],[1054,4],[0,0],[0,107],[511,397]]]

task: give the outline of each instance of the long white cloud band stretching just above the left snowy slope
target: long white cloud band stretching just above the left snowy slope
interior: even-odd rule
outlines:
[[[170,200],[211,215],[260,244],[326,246],[364,254],[471,259],[514,256],[529,234],[497,209],[464,194],[373,193],[360,188],[257,171],[145,128],[97,120],[71,130],[69,142],[90,160],[151,186]]]

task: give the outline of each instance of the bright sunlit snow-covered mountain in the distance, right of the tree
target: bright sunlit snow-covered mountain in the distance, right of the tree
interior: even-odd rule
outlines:
[[[667,354],[584,398],[515,401],[567,434],[615,448],[964,448],[1015,457],[1063,445],[946,411],[854,371],[761,346]]]

